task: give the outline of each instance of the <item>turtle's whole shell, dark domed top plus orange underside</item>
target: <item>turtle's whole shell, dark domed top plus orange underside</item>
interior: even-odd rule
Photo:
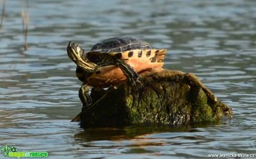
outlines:
[[[142,40],[132,37],[114,37],[95,44],[90,52],[82,56],[100,66],[100,69],[87,79],[88,84],[108,86],[127,78],[116,66],[116,59],[124,60],[140,74],[149,68],[161,68],[165,54],[166,49],[157,49]],[[86,80],[85,74],[86,72],[77,67],[78,79]]]

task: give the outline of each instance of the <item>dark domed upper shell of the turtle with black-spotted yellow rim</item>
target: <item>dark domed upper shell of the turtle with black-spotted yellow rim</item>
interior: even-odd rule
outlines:
[[[157,49],[136,38],[114,37],[95,44],[91,51],[86,54],[86,58],[99,66],[115,65],[115,59],[119,58],[156,63],[164,59],[165,53],[165,49]]]

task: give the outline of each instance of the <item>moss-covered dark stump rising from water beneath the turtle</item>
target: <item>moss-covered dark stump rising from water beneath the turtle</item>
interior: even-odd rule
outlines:
[[[232,109],[191,73],[163,70],[141,76],[136,85],[122,81],[106,92],[92,89],[94,104],[80,113],[81,126],[186,125],[232,117]]]

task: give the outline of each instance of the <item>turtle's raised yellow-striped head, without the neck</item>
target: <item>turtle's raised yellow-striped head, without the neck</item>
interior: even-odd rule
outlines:
[[[76,43],[69,42],[67,45],[67,54],[68,57],[70,57],[71,60],[77,61],[81,60],[81,57],[85,53],[85,50],[83,50],[79,45]]]

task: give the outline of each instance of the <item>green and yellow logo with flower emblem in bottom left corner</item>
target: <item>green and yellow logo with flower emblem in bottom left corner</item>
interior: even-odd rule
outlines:
[[[48,152],[18,152],[18,148],[7,146],[7,144],[1,147],[1,153],[3,153],[4,157],[48,157]]]

